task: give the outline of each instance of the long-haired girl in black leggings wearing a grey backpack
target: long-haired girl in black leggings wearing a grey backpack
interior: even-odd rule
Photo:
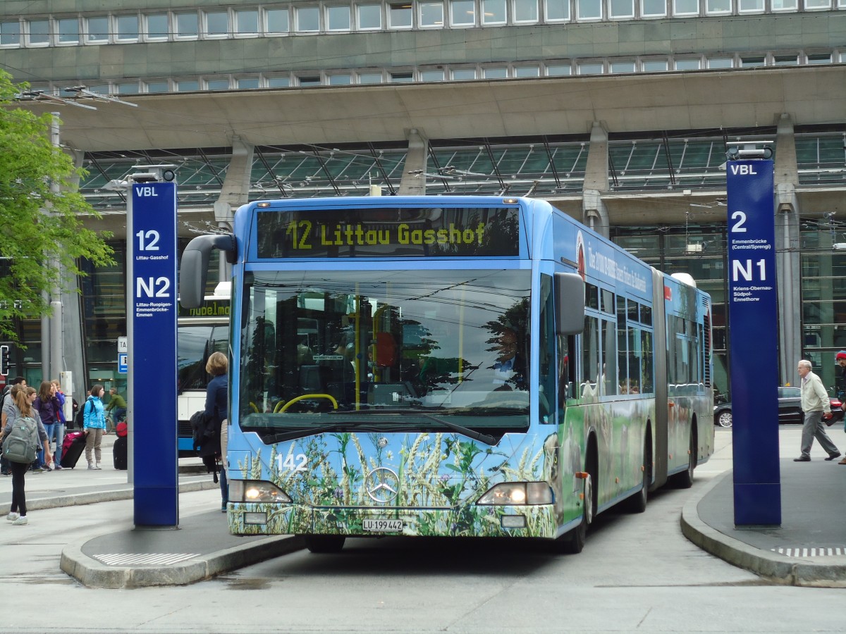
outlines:
[[[24,526],[30,521],[26,517],[25,476],[30,463],[36,459],[39,440],[44,447],[44,460],[52,462],[50,445],[47,443],[47,430],[41,424],[36,408],[33,387],[20,388],[14,395],[14,419],[3,428],[3,456],[6,456],[12,469],[12,506],[6,519],[14,526]]]

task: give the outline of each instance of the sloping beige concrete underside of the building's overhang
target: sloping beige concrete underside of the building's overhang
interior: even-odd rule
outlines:
[[[122,96],[138,107],[85,101],[60,112],[75,150],[220,147],[233,136],[255,145],[405,141],[772,126],[846,120],[846,64],[694,73],[503,79]]]

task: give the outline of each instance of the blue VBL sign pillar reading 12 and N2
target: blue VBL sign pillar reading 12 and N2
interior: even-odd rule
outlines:
[[[179,524],[176,184],[133,183],[127,232],[136,526]],[[137,431],[138,433],[135,433]]]

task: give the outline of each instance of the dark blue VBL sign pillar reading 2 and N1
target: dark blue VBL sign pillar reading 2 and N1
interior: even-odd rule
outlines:
[[[734,524],[780,526],[773,163],[727,161]]]

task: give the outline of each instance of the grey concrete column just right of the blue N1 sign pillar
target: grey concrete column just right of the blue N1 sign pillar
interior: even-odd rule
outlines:
[[[794,125],[788,114],[778,121],[776,158],[776,266],[778,273],[779,378],[795,385],[796,362],[802,355],[801,262],[799,258],[799,168]]]

